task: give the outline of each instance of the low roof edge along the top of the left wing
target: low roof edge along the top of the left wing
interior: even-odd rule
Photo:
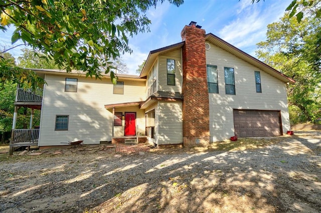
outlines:
[[[41,69],[40,68],[24,68],[24,69],[33,70],[41,77],[45,77],[45,74],[47,74],[47,73],[86,76],[86,72],[82,71],[82,70],[71,70],[70,72],[67,72],[66,70],[62,70],[62,69],[45,69],[45,68],[41,68]],[[101,72],[101,75],[106,76],[106,77],[110,77],[110,72],[108,72],[107,74],[104,72]],[[137,80],[144,80],[144,79],[139,78],[138,75],[133,75],[133,74],[117,74],[117,76],[120,79],[134,78]]]

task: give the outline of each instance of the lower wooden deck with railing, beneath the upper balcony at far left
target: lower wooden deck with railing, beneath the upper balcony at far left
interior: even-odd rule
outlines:
[[[39,128],[13,129],[10,146],[38,145]]]

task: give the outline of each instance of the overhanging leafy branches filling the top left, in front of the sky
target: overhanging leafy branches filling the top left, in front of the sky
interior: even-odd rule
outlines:
[[[83,70],[87,76],[97,78],[101,67],[105,73],[110,71],[110,60],[121,52],[131,52],[127,35],[148,30],[150,20],[145,12],[155,7],[157,1],[2,0],[0,28],[16,27],[12,43],[21,39],[48,55],[60,68]],[[183,0],[168,1],[177,6],[183,3]],[[6,72],[11,67],[0,65],[5,69],[1,70],[1,77],[10,77]],[[115,82],[114,73],[110,75]]]

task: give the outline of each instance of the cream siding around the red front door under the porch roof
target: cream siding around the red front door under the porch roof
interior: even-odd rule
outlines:
[[[112,109],[110,109],[112,112]],[[136,131],[138,125],[138,134],[139,132],[145,132],[145,112],[144,109],[139,109],[138,106],[128,106],[128,107],[116,107],[115,112],[122,112],[124,115],[125,112],[136,112]],[[124,129],[125,129],[125,119],[122,119],[121,126],[114,126],[114,136],[124,136]]]

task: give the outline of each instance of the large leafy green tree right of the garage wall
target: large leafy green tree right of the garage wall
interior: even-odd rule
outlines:
[[[267,39],[257,44],[257,55],[296,80],[287,87],[291,122],[317,123],[321,117],[321,21],[306,16],[298,22],[288,15],[267,26]]]

